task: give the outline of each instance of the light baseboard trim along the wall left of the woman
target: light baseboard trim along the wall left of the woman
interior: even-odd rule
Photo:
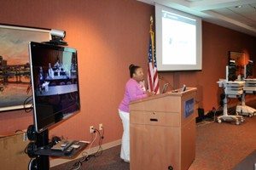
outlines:
[[[102,150],[107,150],[107,149],[112,148],[112,147],[114,147],[114,146],[117,146],[117,145],[119,145],[119,144],[121,144],[121,139],[115,140],[115,141],[113,141],[113,142],[109,142],[109,143],[107,143],[107,144],[102,144]],[[93,147],[93,148],[90,148],[90,150],[87,149],[87,150],[82,151],[82,152],[79,154],[79,156],[77,156],[77,157],[74,158],[74,159],[62,159],[62,158],[57,158],[57,159],[50,160],[50,161],[49,161],[49,167],[55,167],[55,166],[61,165],[61,164],[63,164],[63,163],[67,163],[68,161],[73,161],[73,160],[82,158],[82,157],[83,157],[83,155],[82,155],[83,152],[87,152],[87,153],[90,155],[90,154],[96,153],[97,150],[98,150],[98,146]]]

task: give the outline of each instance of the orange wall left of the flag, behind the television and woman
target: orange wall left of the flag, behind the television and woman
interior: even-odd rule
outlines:
[[[135,63],[146,70],[149,16],[154,7],[134,0],[0,3],[0,23],[63,29],[69,46],[78,49],[81,111],[50,133],[90,140],[89,126],[103,123],[104,143],[120,139],[118,105],[129,78],[128,66]],[[15,126],[9,120],[20,124]],[[23,111],[0,113],[0,134],[31,123],[31,116]]]

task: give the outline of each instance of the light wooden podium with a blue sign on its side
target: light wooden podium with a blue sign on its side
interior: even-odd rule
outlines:
[[[195,94],[158,94],[130,104],[131,170],[184,170],[195,160]]]

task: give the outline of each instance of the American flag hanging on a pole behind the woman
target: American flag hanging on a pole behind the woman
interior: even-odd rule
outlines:
[[[150,26],[148,47],[148,90],[155,94],[160,93],[154,50],[154,32],[152,31],[152,26]]]

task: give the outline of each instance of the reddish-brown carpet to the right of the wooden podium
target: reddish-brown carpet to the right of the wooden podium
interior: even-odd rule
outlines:
[[[197,127],[195,161],[189,170],[235,167],[256,149],[255,129],[256,116],[238,126],[215,122]]]

